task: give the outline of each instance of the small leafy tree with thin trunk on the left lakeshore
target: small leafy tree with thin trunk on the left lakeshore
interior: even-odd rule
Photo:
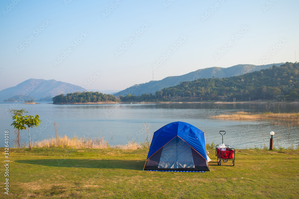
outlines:
[[[27,127],[28,127],[28,130],[29,130],[29,147],[30,147],[30,150],[31,150],[30,128],[38,127],[39,124],[42,122],[39,119],[39,115],[35,115],[35,117],[33,117],[32,115],[29,115],[29,116],[25,115],[25,116],[20,116],[20,117],[15,116],[14,119],[15,119],[15,121],[11,125],[13,125],[16,129],[22,130],[22,129],[27,129]]]

